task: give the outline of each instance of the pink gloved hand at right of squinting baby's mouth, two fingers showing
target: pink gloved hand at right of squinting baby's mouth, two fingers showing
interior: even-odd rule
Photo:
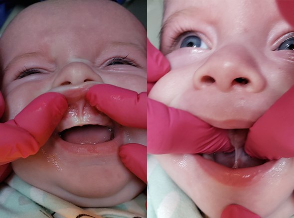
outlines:
[[[129,127],[147,128],[147,93],[136,93],[109,84],[95,85],[86,94],[91,106],[116,122]],[[147,148],[141,144],[122,145],[119,153],[124,165],[147,183]]]

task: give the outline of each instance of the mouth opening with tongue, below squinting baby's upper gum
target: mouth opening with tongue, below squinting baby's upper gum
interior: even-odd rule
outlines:
[[[60,137],[74,144],[98,144],[114,138],[113,129],[101,125],[75,126],[60,133]]]

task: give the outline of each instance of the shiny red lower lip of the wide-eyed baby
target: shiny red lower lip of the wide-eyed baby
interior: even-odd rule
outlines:
[[[281,168],[287,165],[289,159],[269,161],[255,167],[232,169],[207,160],[200,155],[194,155],[196,162],[211,178],[228,186],[246,187],[256,184],[267,174],[276,174]]]

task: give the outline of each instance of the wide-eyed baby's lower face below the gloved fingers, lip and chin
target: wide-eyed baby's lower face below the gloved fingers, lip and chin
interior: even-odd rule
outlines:
[[[165,154],[156,158],[210,218],[220,217],[230,204],[241,205],[265,218],[290,217],[294,213],[293,158],[243,169],[226,168],[194,154]]]

